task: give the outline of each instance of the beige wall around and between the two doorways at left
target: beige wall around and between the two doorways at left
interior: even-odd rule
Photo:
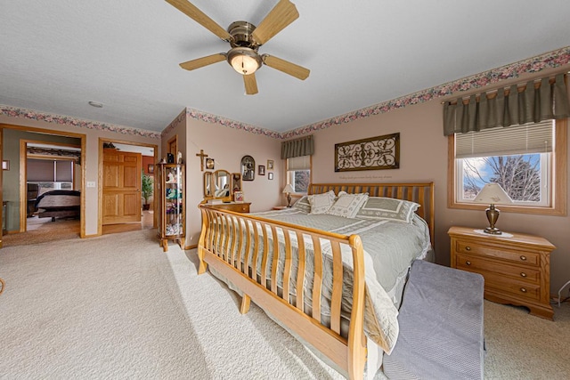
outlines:
[[[156,138],[146,137],[139,134],[125,134],[114,133],[103,129],[84,128],[76,125],[60,125],[55,123],[46,122],[43,120],[28,119],[22,117],[8,117],[0,115],[0,126],[5,125],[19,125],[23,127],[41,128],[51,131],[53,133],[67,132],[67,133],[81,133],[85,134],[85,162],[82,162],[82,170],[85,170],[84,183],[94,182],[94,187],[82,187],[85,193],[85,236],[97,236],[98,231],[98,187],[99,187],[99,138],[121,141],[132,141],[147,144],[159,145]],[[4,131],[12,131],[10,128],[4,128]],[[4,141],[4,150],[9,149],[11,144]],[[4,153],[3,153],[4,154]],[[11,161],[12,169],[12,161]],[[14,172],[15,173],[15,172]],[[5,172],[4,172],[5,174]],[[12,181],[19,181],[19,178],[14,178]],[[4,177],[4,183],[6,178]],[[4,200],[6,200],[4,194]]]

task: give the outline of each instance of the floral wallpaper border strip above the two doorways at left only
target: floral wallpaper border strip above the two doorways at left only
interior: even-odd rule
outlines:
[[[143,129],[133,128],[131,126],[101,123],[98,121],[85,120],[77,117],[54,115],[35,111],[32,109],[19,109],[16,107],[0,105],[0,114],[7,117],[22,117],[29,120],[45,121],[46,123],[53,123],[58,125],[71,125],[77,126],[79,128],[94,129],[97,131],[130,134],[133,136],[149,137],[151,139],[160,138],[159,132],[146,131]]]

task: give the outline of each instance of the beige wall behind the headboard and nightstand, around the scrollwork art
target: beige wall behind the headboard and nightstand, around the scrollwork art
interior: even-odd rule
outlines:
[[[335,173],[335,143],[397,132],[401,139],[399,169]],[[568,142],[570,145],[570,139]],[[447,230],[451,226],[488,225],[484,211],[447,208],[447,138],[441,99],[316,131],[314,144],[313,182],[435,182],[437,263],[450,264]],[[570,205],[569,199],[566,204]],[[558,293],[570,279],[570,217],[502,212],[497,226],[504,231],[542,236],[557,247],[550,256],[550,291]]]

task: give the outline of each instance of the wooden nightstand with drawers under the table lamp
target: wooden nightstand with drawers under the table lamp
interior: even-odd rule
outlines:
[[[490,235],[473,228],[452,227],[452,268],[480,273],[485,299],[525,306],[530,313],[552,319],[550,306],[550,241],[506,232]]]

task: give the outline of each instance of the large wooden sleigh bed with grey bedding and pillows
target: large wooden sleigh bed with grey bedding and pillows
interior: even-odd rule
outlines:
[[[286,210],[200,206],[207,265],[350,378],[369,376],[398,336],[411,263],[432,247],[433,183],[313,184]]]

